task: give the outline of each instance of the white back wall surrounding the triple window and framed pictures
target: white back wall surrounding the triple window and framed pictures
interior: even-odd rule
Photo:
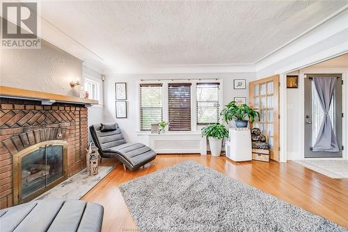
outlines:
[[[138,141],[148,144],[148,137],[137,133],[138,99],[136,85],[141,79],[223,79],[223,105],[234,97],[246,97],[248,102],[248,82],[254,80],[255,72],[244,73],[198,73],[198,74],[144,74],[144,75],[106,75],[104,95],[106,112],[104,122],[117,122],[128,141]],[[246,89],[233,89],[233,79],[246,79]],[[115,82],[127,82],[127,118],[115,117]]]

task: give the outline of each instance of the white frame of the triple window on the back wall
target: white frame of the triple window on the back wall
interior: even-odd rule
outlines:
[[[138,99],[137,107],[137,132],[149,134],[150,132],[141,131],[140,127],[140,84],[162,84],[163,88],[163,120],[168,122],[168,84],[169,83],[191,83],[191,131],[178,131],[180,133],[184,132],[200,132],[200,129],[203,125],[197,125],[197,83],[212,83],[216,82],[220,84],[220,109],[223,109],[223,80],[222,79],[161,79],[157,81],[153,80],[143,80],[136,83],[136,94]],[[221,121],[221,118],[220,118]],[[167,130],[168,132],[168,130]],[[177,132],[168,132],[168,133],[177,133]]]

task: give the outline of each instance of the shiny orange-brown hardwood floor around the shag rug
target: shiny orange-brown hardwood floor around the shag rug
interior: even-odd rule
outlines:
[[[137,171],[124,171],[121,164],[90,190],[82,200],[104,206],[102,231],[134,231],[136,225],[129,214],[118,185],[133,178],[173,166],[184,160],[194,160],[216,169],[259,190],[277,196],[348,228],[348,179],[331,179],[302,167],[295,162],[232,162],[226,157],[211,155],[157,155],[150,164]],[[115,165],[103,159],[103,166]]]

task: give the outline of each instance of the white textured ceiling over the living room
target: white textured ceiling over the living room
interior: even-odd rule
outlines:
[[[42,1],[110,67],[255,63],[348,1]]]

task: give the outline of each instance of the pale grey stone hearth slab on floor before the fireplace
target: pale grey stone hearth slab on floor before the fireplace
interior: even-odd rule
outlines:
[[[74,176],[64,180],[59,185],[56,185],[51,190],[41,194],[35,200],[47,199],[73,199],[79,200],[89,190],[92,190],[97,183],[100,183],[107,174],[115,167],[98,167],[98,173],[94,176],[89,176],[86,169],[76,173]]]

